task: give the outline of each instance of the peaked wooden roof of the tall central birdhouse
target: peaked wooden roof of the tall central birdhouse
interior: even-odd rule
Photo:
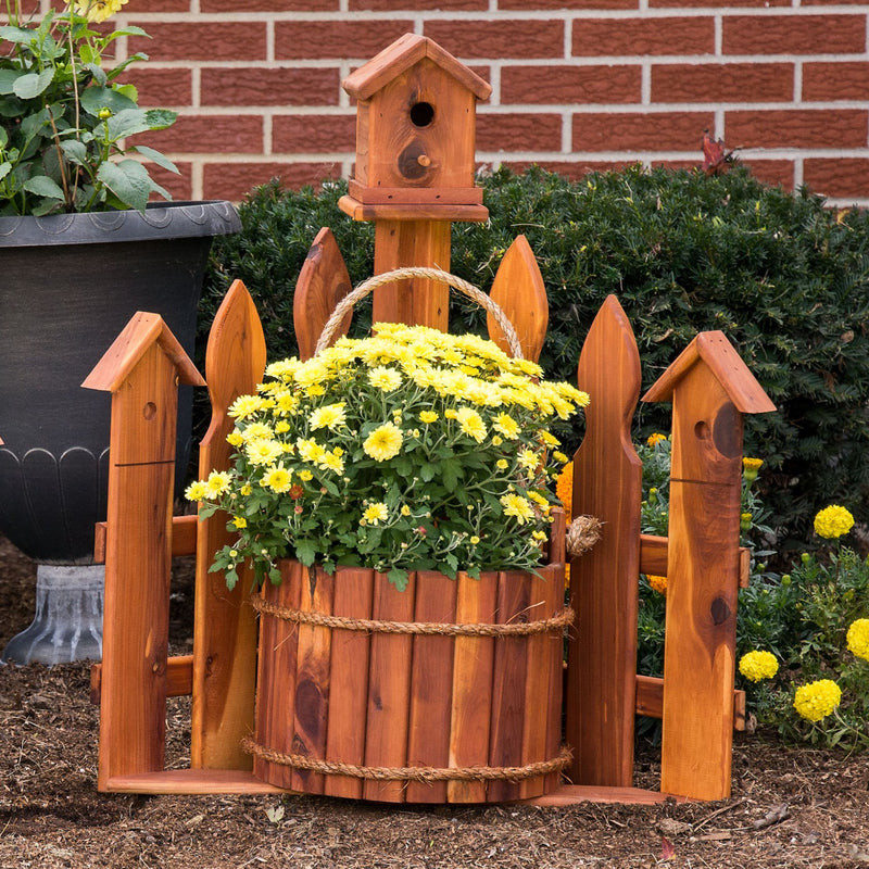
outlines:
[[[405,34],[360,66],[344,79],[343,88],[354,99],[367,100],[424,58],[437,63],[478,100],[488,99],[492,92],[491,85],[459,63],[449,51],[428,37],[416,34]]]

